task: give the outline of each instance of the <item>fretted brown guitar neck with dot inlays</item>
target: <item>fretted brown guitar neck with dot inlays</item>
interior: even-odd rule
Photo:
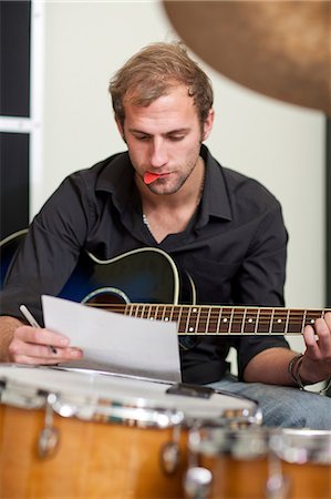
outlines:
[[[124,304],[107,305],[111,312],[149,320],[173,320],[179,335],[302,335],[307,325],[328,309],[271,307]]]

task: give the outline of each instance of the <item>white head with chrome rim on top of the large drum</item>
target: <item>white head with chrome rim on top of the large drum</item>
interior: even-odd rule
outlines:
[[[196,420],[216,425],[250,420],[256,403],[211,391],[208,398],[169,394],[169,383],[91,370],[1,365],[2,404],[42,407],[46,400],[64,417],[146,419],[172,426]],[[139,416],[138,416],[139,415]]]

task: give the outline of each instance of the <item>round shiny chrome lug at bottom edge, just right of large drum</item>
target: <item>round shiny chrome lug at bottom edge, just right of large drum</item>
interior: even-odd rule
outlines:
[[[207,468],[195,466],[186,471],[184,491],[187,499],[208,499],[211,495],[213,475]]]

